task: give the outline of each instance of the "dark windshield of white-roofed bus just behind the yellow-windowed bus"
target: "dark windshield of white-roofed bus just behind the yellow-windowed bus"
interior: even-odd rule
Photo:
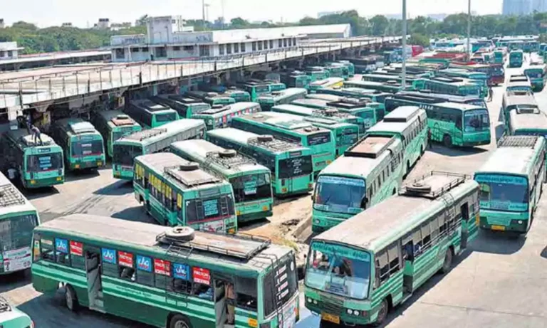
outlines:
[[[270,174],[249,174],[230,179],[236,203],[271,197]]]

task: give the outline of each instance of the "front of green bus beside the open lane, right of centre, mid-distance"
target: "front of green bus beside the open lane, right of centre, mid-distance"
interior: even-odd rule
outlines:
[[[462,145],[464,147],[490,144],[491,131],[488,110],[479,107],[472,110],[465,110],[463,121],[464,131],[462,136]]]

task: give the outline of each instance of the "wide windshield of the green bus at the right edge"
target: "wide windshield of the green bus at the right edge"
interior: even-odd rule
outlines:
[[[480,206],[484,209],[528,211],[528,181],[523,176],[477,174],[480,184]]]

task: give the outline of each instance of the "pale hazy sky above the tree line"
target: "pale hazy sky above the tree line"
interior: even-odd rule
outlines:
[[[0,18],[6,23],[28,21],[38,26],[61,25],[71,22],[85,27],[98,18],[111,22],[135,22],[139,16],[181,15],[201,18],[202,0],[3,0]],[[223,0],[205,0],[209,4],[209,20],[222,16]],[[472,11],[479,14],[498,14],[502,0],[472,0]],[[361,16],[397,14],[402,0],[224,0],[227,19],[241,16],[249,21],[298,21],[303,16],[316,17],[320,11],[357,9]],[[410,16],[420,14],[452,14],[467,11],[467,0],[407,0]]]

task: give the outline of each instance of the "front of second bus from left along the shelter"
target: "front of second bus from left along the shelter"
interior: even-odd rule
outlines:
[[[105,165],[105,144],[99,132],[71,137],[69,169],[98,169]]]

